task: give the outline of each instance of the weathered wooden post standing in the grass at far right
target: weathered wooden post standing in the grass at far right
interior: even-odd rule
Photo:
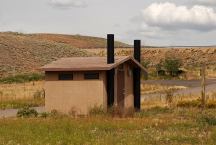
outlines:
[[[202,108],[205,108],[206,105],[206,64],[202,65],[201,69],[201,87],[202,87],[202,92],[201,92],[201,101],[202,101]]]

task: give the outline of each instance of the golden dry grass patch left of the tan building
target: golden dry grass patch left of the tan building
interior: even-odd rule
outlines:
[[[44,82],[0,84],[0,109],[37,107],[45,104]]]

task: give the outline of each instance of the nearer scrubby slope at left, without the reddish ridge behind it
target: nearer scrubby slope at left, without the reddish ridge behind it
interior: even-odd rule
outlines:
[[[88,52],[67,44],[39,40],[29,35],[0,33],[0,76],[35,72],[60,57],[87,55]]]

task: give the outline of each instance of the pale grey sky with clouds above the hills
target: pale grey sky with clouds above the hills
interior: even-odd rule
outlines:
[[[0,31],[216,45],[216,0],[0,0]]]

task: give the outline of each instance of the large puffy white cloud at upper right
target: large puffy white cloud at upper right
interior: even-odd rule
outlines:
[[[165,30],[216,29],[216,12],[211,7],[195,5],[176,6],[174,3],[153,3],[141,11],[142,25]]]

